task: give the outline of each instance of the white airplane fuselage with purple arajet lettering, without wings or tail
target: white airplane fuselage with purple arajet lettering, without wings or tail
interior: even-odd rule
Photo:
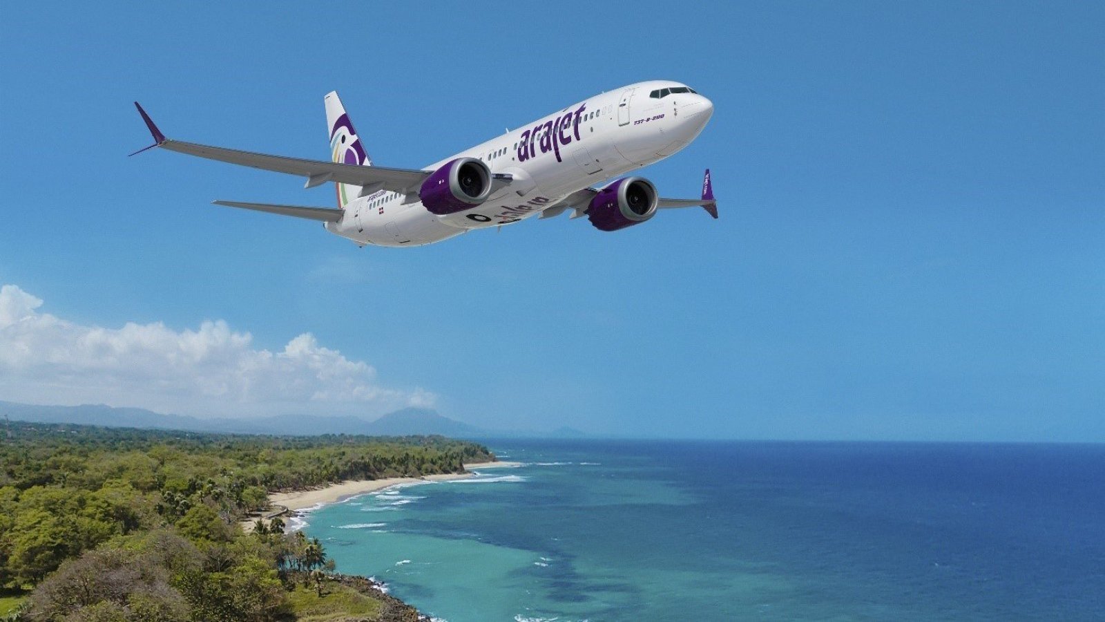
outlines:
[[[474,157],[493,174],[513,177],[506,188],[472,209],[436,216],[414,196],[380,190],[347,203],[341,219],[327,222],[326,229],[362,245],[419,246],[540,214],[577,190],[661,160],[691,143],[709,121],[713,104],[696,93],[650,96],[673,86],[685,85],[651,81],[602,93],[425,168],[436,170],[455,158]]]

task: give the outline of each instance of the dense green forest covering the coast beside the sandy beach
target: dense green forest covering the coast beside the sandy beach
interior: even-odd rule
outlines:
[[[494,459],[444,437],[240,436],[10,422],[0,433],[0,614],[65,622],[414,619],[333,574],[271,491],[459,473]],[[366,595],[368,594],[368,595]],[[394,601],[394,602],[392,602]]]

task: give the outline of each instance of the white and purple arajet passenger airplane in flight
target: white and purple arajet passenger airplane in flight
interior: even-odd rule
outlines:
[[[709,169],[697,199],[661,198],[643,177],[619,177],[673,155],[694,141],[714,104],[671,81],[630,84],[588,97],[423,169],[373,166],[336,92],[325,96],[330,162],[265,155],[167,138],[135,107],[155,143],[170,152],[301,175],[305,188],[334,183],[337,207],[217,200],[320,220],[358,246],[423,246],[473,229],[502,227],[535,215],[587,216],[602,231],[651,219],[657,209],[703,207],[717,218]]]

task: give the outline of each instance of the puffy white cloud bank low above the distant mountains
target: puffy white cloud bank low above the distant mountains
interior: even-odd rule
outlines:
[[[381,386],[371,365],[311,333],[270,352],[222,320],[183,331],[161,322],[105,329],[41,313],[41,305],[17,286],[0,288],[0,400],[201,416],[378,415],[434,402],[420,388]]]

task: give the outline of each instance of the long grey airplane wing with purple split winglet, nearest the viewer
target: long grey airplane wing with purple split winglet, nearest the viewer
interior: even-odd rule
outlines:
[[[138,105],[138,102],[135,102],[135,107],[138,108],[138,113],[141,114],[143,121],[146,122],[146,127],[149,128],[149,133],[154,135],[155,143],[149,147],[139,149],[130,155],[141,153],[152,147],[161,147],[162,149],[168,149],[170,152],[178,152],[208,159],[239,164],[242,166],[252,166],[253,168],[261,168],[263,170],[286,173],[288,175],[302,175],[307,178],[307,188],[313,188],[327,182],[337,182],[339,184],[351,184],[354,186],[371,186],[375,187],[375,190],[383,189],[393,193],[417,194],[419,187],[422,185],[422,182],[424,182],[425,178],[433,173],[432,170],[387,168],[383,166],[355,166],[351,164],[337,164],[316,159],[301,159],[295,157],[241,152],[238,149],[227,149],[223,147],[212,147],[209,145],[186,143],[183,141],[173,141],[165,137],[165,134],[157,128],[157,125],[154,125],[154,121],[150,120],[149,115],[146,114],[146,111]]]

